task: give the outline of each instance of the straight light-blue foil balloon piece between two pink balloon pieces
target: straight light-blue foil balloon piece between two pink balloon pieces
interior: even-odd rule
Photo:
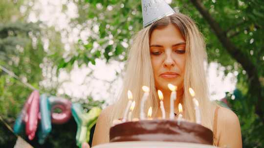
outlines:
[[[46,137],[51,131],[51,115],[48,96],[42,94],[40,97],[40,127],[38,131],[39,143],[44,144]]]

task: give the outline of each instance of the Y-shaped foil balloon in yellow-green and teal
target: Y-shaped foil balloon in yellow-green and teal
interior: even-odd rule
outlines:
[[[89,112],[83,112],[81,104],[72,103],[71,112],[77,123],[76,144],[81,148],[84,142],[89,141],[90,129],[96,123],[101,109],[94,107]]]

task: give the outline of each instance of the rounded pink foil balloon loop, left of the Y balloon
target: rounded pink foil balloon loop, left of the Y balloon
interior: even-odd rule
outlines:
[[[65,98],[50,96],[49,102],[51,106],[51,121],[54,124],[64,124],[71,117],[71,102]],[[54,112],[56,109],[61,110],[60,113]]]

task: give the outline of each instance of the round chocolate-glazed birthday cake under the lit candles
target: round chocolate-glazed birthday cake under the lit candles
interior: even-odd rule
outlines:
[[[213,132],[202,125],[177,120],[140,120],[114,125],[110,142],[170,141],[213,145]]]

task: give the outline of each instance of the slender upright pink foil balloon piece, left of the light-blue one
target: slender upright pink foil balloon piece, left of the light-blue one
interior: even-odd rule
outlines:
[[[40,93],[33,91],[25,104],[26,115],[24,122],[26,124],[26,135],[29,140],[33,140],[38,127]]]

